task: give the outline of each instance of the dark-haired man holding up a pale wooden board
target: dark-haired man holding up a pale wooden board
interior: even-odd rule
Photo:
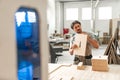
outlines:
[[[92,38],[92,36],[90,36],[88,33],[82,31],[81,23],[79,21],[72,22],[71,28],[73,29],[73,31],[76,34],[87,35],[87,44],[86,44],[85,56],[75,55],[74,64],[78,64],[79,62],[83,62],[84,65],[91,65],[91,58],[92,58],[92,50],[91,49],[92,49],[92,46],[94,48],[99,48],[98,42],[94,38]],[[78,46],[76,44],[71,45],[71,43],[70,43],[69,53],[71,55],[73,55],[75,48],[78,48]]]

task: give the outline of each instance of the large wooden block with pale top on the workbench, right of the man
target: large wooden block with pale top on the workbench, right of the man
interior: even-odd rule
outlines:
[[[94,56],[92,58],[93,71],[108,71],[108,56]]]

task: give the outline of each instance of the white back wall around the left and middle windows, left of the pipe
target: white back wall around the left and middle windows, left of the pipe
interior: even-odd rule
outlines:
[[[66,8],[78,8],[78,20],[82,23],[83,30],[89,30],[90,29],[90,21],[82,21],[82,7],[90,7],[91,2],[70,2],[64,4],[64,27],[70,28],[70,25],[72,21],[66,21]],[[71,30],[71,28],[70,28]],[[71,30],[72,32],[72,30]]]

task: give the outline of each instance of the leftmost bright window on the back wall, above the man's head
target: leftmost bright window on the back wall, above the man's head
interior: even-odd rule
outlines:
[[[78,20],[78,8],[67,8],[66,20]]]

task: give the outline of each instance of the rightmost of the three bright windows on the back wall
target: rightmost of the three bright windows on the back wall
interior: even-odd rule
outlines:
[[[111,7],[100,7],[98,12],[99,19],[111,19],[112,18],[112,8]]]

